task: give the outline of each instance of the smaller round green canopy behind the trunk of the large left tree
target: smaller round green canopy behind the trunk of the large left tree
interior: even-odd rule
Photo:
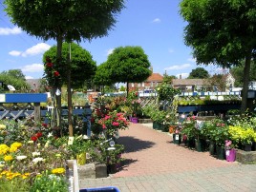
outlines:
[[[67,64],[67,56],[69,57],[71,50],[71,65]],[[73,88],[78,88],[84,85],[86,80],[92,79],[96,73],[96,62],[93,60],[93,56],[86,49],[78,46],[75,43],[69,44],[64,43],[62,47],[62,61],[63,66],[55,65],[56,62],[56,46],[53,46],[44,53],[43,63],[46,63],[46,57],[50,57],[53,62],[53,68],[55,71],[59,72],[61,82],[67,85],[67,71],[71,70],[71,86]],[[69,67],[69,68],[67,68]],[[47,65],[45,65],[45,77],[49,80],[47,76]]]

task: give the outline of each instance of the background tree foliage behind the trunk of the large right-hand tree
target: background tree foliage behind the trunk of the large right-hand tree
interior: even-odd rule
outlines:
[[[243,86],[244,82],[244,68],[245,68],[245,61],[242,62],[241,65],[237,67],[230,68],[230,73],[235,78],[235,86]],[[249,73],[249,81],[256,81],[256,65],[255,62],[252,61]]]

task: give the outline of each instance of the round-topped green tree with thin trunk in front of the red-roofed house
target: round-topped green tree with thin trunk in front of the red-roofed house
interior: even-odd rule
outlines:
[[[140,47],[115,48],[106,63],[111,81],[127,84],[127,96],[129,83],[143,82],[152,73],[148,57]]]

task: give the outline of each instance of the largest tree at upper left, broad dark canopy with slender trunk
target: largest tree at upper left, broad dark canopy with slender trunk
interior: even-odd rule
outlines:
[[[123,0],[38,0],[16,1],[5,0],[6,11],[11,21],[28,34],[43,40],[54,39],[57,42],[56,65],[61,65],[63,42],[80,42],[92,40],[108,34],[115,26],[120,10],[124,8]],[[70,63],[67,62],[67,65]],[[70,71],[67,79],[70,79]],[[70,83],[69,83],[70,84]],[[69,85],[68,84],[68,85]],[[54,87],[52,94],[55,93]],[[71,97],[68,86],[68,97]],[[61,123],[61,97],[56,95],[58,123]],[[71,106],[69,106],[71,108]],[[70,115],[70,111],[69,111]],[[72,121],[69,120],[70,136],[73,136]]]

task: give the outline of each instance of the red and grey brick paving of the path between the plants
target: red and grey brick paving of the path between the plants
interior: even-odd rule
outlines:
[[[103,179],[80,181],[80,188],[116,186],[119,191],[256,191],[256,165],[228,163],[208,152],[172,143],[152,125],[131,124],[120,131],[125,163]]]

